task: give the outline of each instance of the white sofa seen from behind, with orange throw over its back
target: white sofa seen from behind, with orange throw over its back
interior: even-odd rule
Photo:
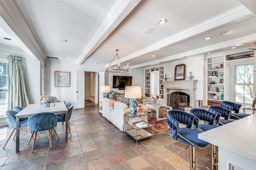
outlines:
[[[130,113],[129,107],[121,102],[114,102],[114,109],[109,110],[110,99],[104,98],[102,101],[102,116],[108,119],[120,131],[124,132],[124,114]]]

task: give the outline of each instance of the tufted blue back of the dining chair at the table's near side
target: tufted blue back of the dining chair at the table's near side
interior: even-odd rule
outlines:
[[[52,129],[57,126],[57,115],[51,112],[36,113],[28,117],[28,130],[39,132]]]

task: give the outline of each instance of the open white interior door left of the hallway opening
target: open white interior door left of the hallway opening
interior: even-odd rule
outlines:
[[[76,109],[84,108],[84,71],[76,70]]]

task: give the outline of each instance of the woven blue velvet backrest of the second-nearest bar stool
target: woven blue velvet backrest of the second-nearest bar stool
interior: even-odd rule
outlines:
[[[212,111],[206,109],[191,109],[189,113],[195,115],[200,120],[208,121],[208,125],[213,125],[215,123],[218,125],[220,114],[214,113]],[[194,127],[198,128],[198,124],[193,124]]]

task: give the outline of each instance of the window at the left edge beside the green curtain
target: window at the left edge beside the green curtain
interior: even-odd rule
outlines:
[[[8,102],[8,63],[0,61],[0,117],[5,116]]]

